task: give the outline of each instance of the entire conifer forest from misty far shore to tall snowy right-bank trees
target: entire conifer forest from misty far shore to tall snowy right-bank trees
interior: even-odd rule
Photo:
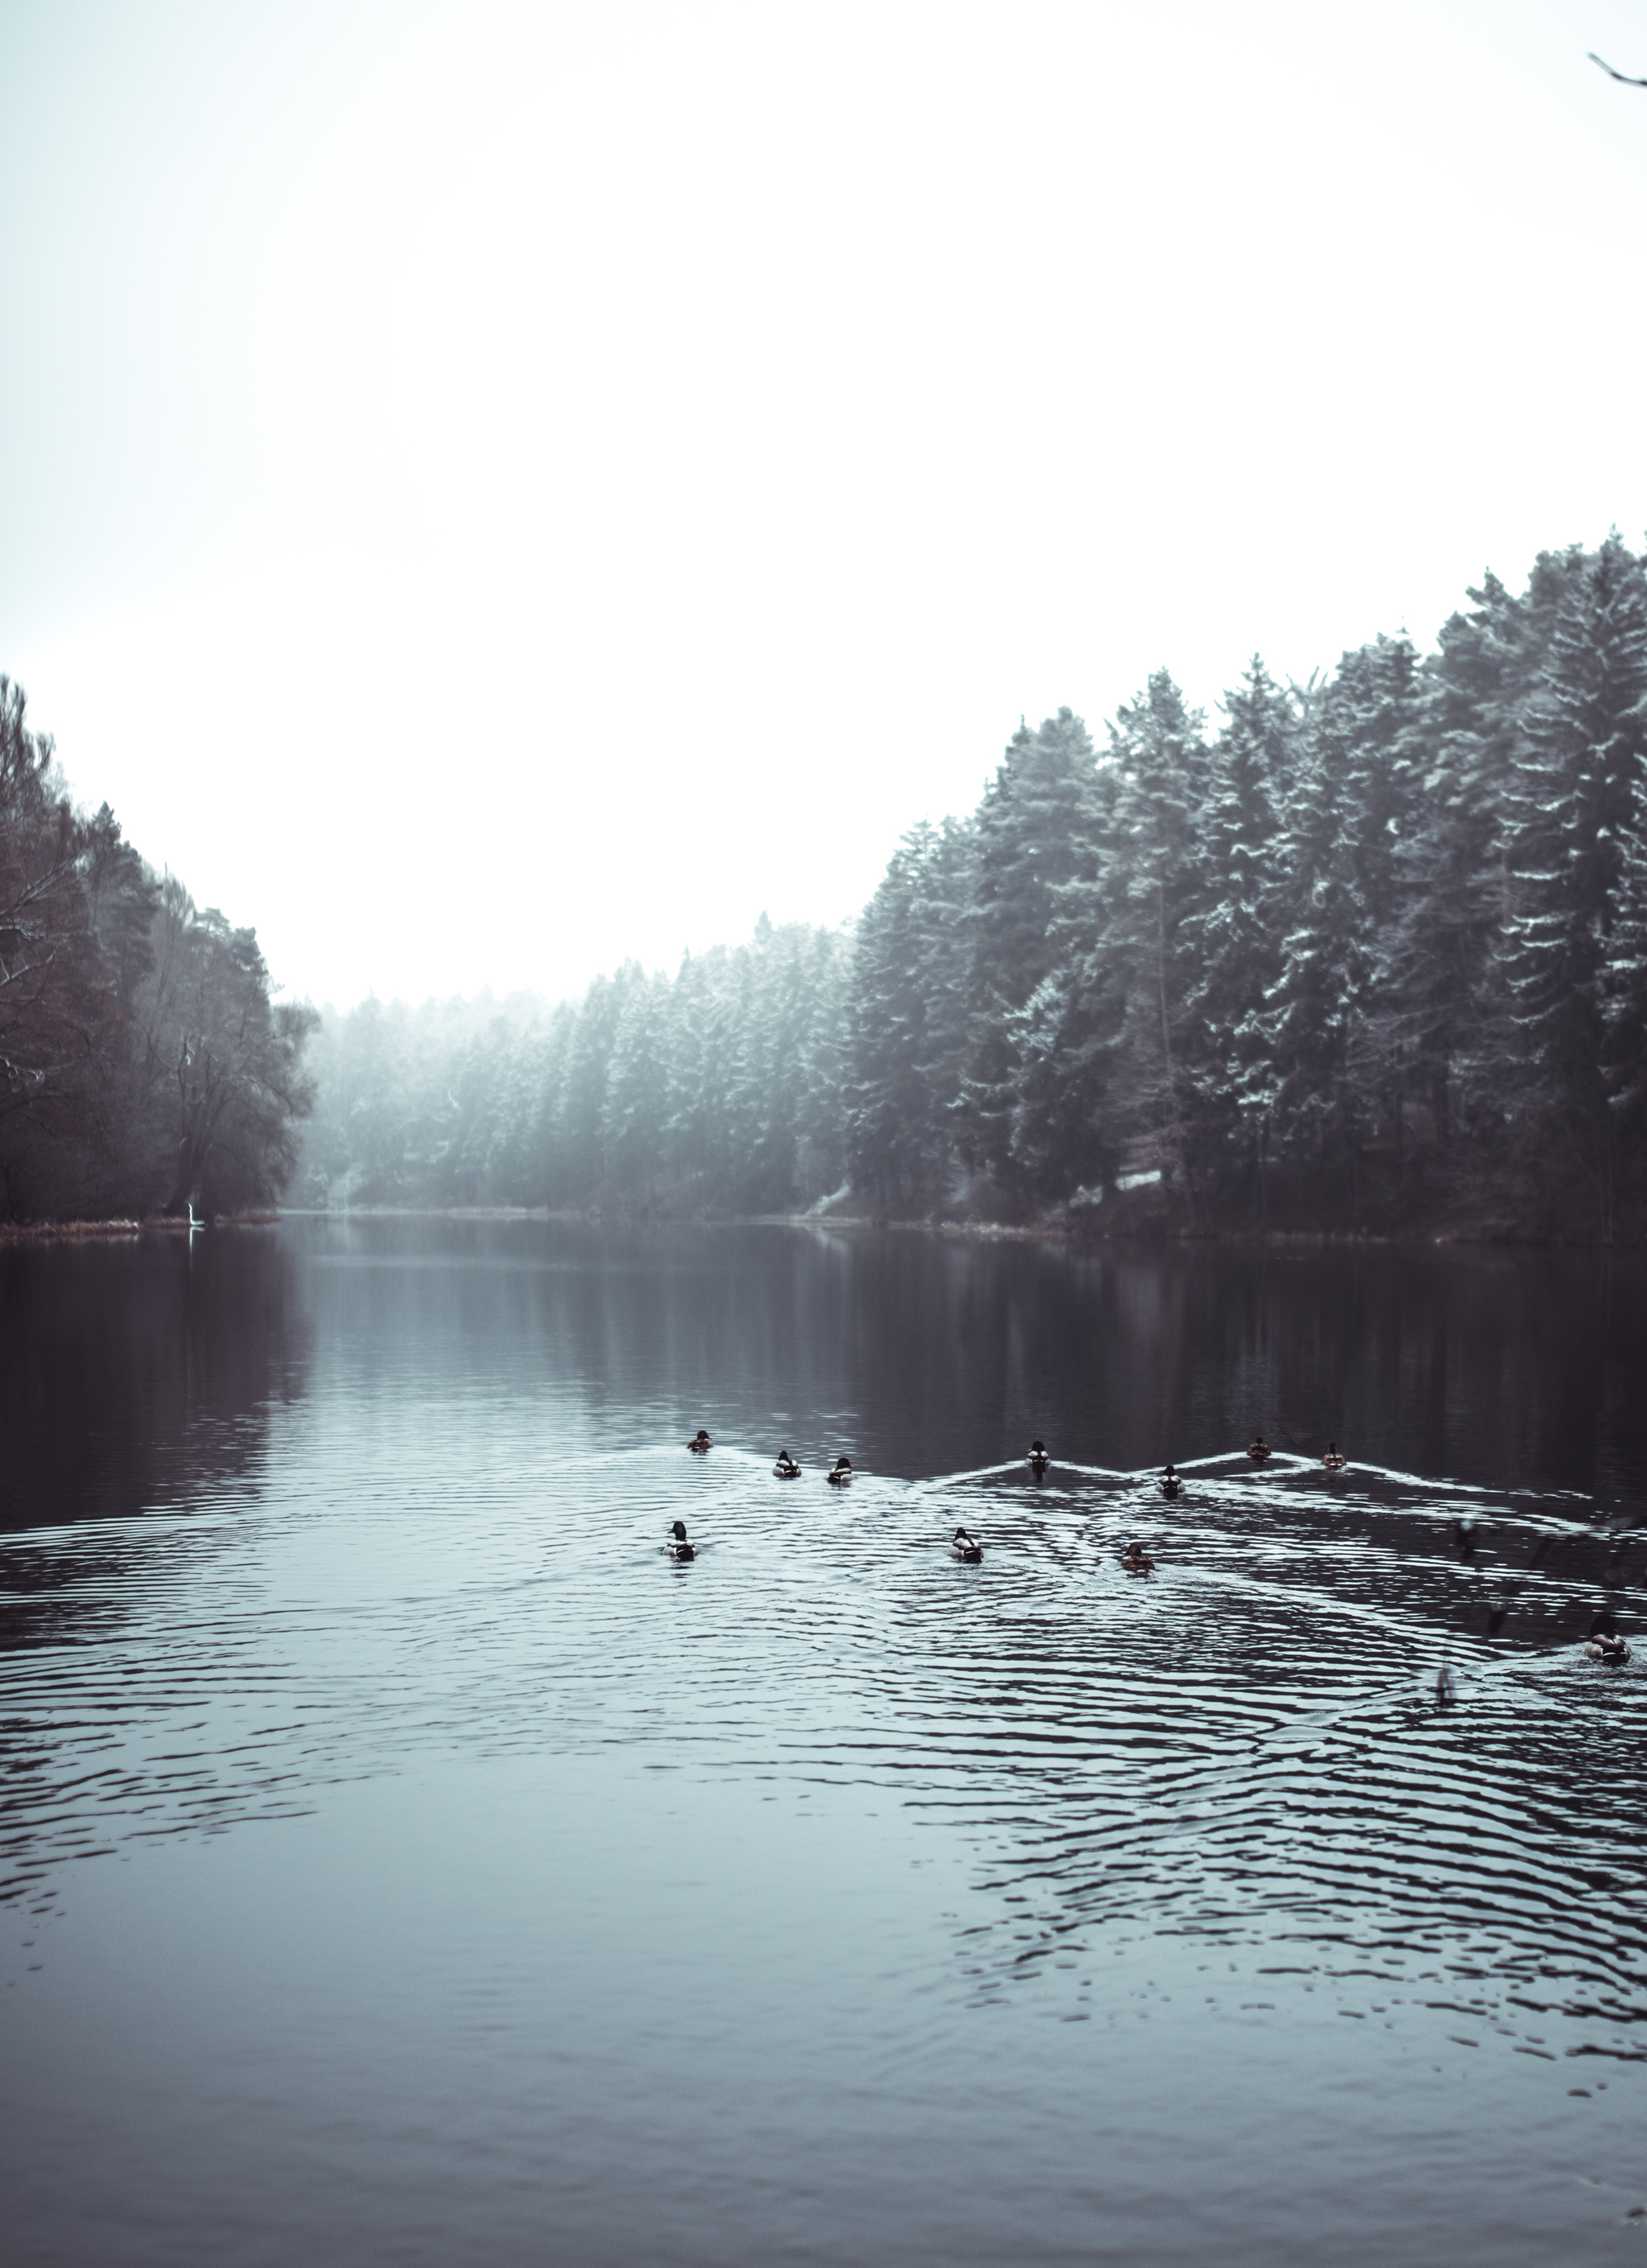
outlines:
[[[1216,730],[1164,671],[1059,710],[851,932],[472,1014],[327,1025],[311,1195],[1640,1234],[1642,560],[1255,660]]]

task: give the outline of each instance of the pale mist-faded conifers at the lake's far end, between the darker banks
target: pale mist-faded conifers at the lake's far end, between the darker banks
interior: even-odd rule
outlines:
[[[762,919],[678,975],[628,962],[576,1007],[322,1016],[295,1191],[313,1204],[787,1211],[844,1182],[851,943]]]

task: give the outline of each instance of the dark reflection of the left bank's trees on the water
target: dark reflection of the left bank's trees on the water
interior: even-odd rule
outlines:
[[[270,1232],[0,1252],[0,1529],[143,1513],[240,1479],[304,1361],[293,1252]],[[9,1588],[27,1588],[27,1554],[7,1565]],[[52,1551],[52,1588],[64,1565]]]

